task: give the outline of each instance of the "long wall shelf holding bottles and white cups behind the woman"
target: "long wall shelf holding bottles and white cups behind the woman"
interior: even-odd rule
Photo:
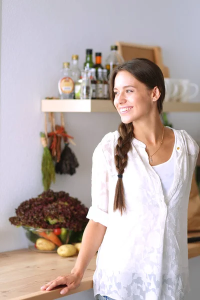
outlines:
[[[200,102],[165,102],[164,112],[200,112]],[[43,112],[116,112],[111,100],[41,100]]]

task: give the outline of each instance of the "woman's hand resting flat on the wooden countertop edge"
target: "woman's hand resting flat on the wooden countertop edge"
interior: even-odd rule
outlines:
[[[41,286],[42,290],[51,290],[53,287],[61,284],[66,284],[67,286],[61,289],[60,293],[63,295],[67,293],[70,289],[77,288],[80,285],[82,276],[75,273],[71,273],[65,276],[58,276],[56,279],[49,281],[45,285]]]

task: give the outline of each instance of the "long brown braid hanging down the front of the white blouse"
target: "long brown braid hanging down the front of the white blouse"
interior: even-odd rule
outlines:
[[[115,147],[114,162],[118,174],[123,174],[124,168],[127,165],[128,151],[131,149],[131,140],[133,138],[133,125],[132,123],[120,123],[118,127],[119,137],[118,143]],[[119,209],[121,215],[125,211],[125,198],[123,190],[122,178],[118,178],[115,188],[113,210]]]

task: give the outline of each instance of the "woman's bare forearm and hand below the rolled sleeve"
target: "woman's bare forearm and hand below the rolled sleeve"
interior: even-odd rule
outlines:
[[[84,229],[80,251],[71,273],[58,276],[56,279],[43,285],[41,289],[50,290],[57,285],[66,284],[67,286],[60,291],[61,294],[65,294],[68,290],[77,288],[80,285],[87,265],[100,247],[105,231],[106,227],[104,225],[89,220]]]

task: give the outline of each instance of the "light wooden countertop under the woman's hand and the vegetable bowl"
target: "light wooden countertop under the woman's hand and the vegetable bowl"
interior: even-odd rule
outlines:
[[[188,244],[188,257],[198,255],[200,242]],[[61,287],[42,291],[40,286],[59,275],[70,273],[75,260],[76,256],[60,257],[57,253],[38,253],[29,249],[0,253],[0,299],[54,300],[63,297],[59,293]],[[80,286],[69,291],[67,295],[92,288],[95,261],[96,255],[90,261]]]

